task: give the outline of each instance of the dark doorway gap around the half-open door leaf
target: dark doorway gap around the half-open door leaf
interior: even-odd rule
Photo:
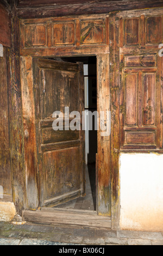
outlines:
[[[97,111],[97,59],[96,56],[87,57],[64,57],[53,58],[55,60],[84,64],[84,84],[85,84],[85,113],[92,113],[92,129],[89,129],[91,120],[85,117],[85,163],[86,163],[86,195],[69,202],[55,206],[61,209],[77,209],[96,211],[96,154],[97,154],[97,130],[95,124]]]

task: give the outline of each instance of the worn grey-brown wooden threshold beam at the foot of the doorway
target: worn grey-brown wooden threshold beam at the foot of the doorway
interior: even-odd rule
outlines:
[[[23,212],[23,220],[35,223],[111,228],[110,217],[97,216],[95,211],[42,208]]]

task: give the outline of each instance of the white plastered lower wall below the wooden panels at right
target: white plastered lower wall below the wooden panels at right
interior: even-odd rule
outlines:
[[[163,231],[163,155],[120,155],[120,228]]]

